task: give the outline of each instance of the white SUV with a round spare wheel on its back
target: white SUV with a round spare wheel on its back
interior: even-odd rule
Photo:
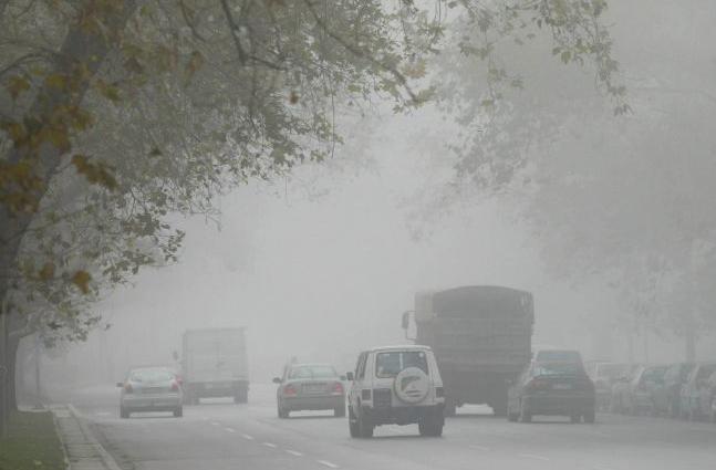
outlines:
[[[428,346],[385,346],[361,353],[349,394],[351,437],[370,438],[380,425],[417,424],[422,436],[442,436],[443,379]]]

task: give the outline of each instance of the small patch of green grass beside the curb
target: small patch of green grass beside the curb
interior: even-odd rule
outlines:
[[[0,470],[64,470],[62,443],[50,411],[14,412],[0,438]]]

